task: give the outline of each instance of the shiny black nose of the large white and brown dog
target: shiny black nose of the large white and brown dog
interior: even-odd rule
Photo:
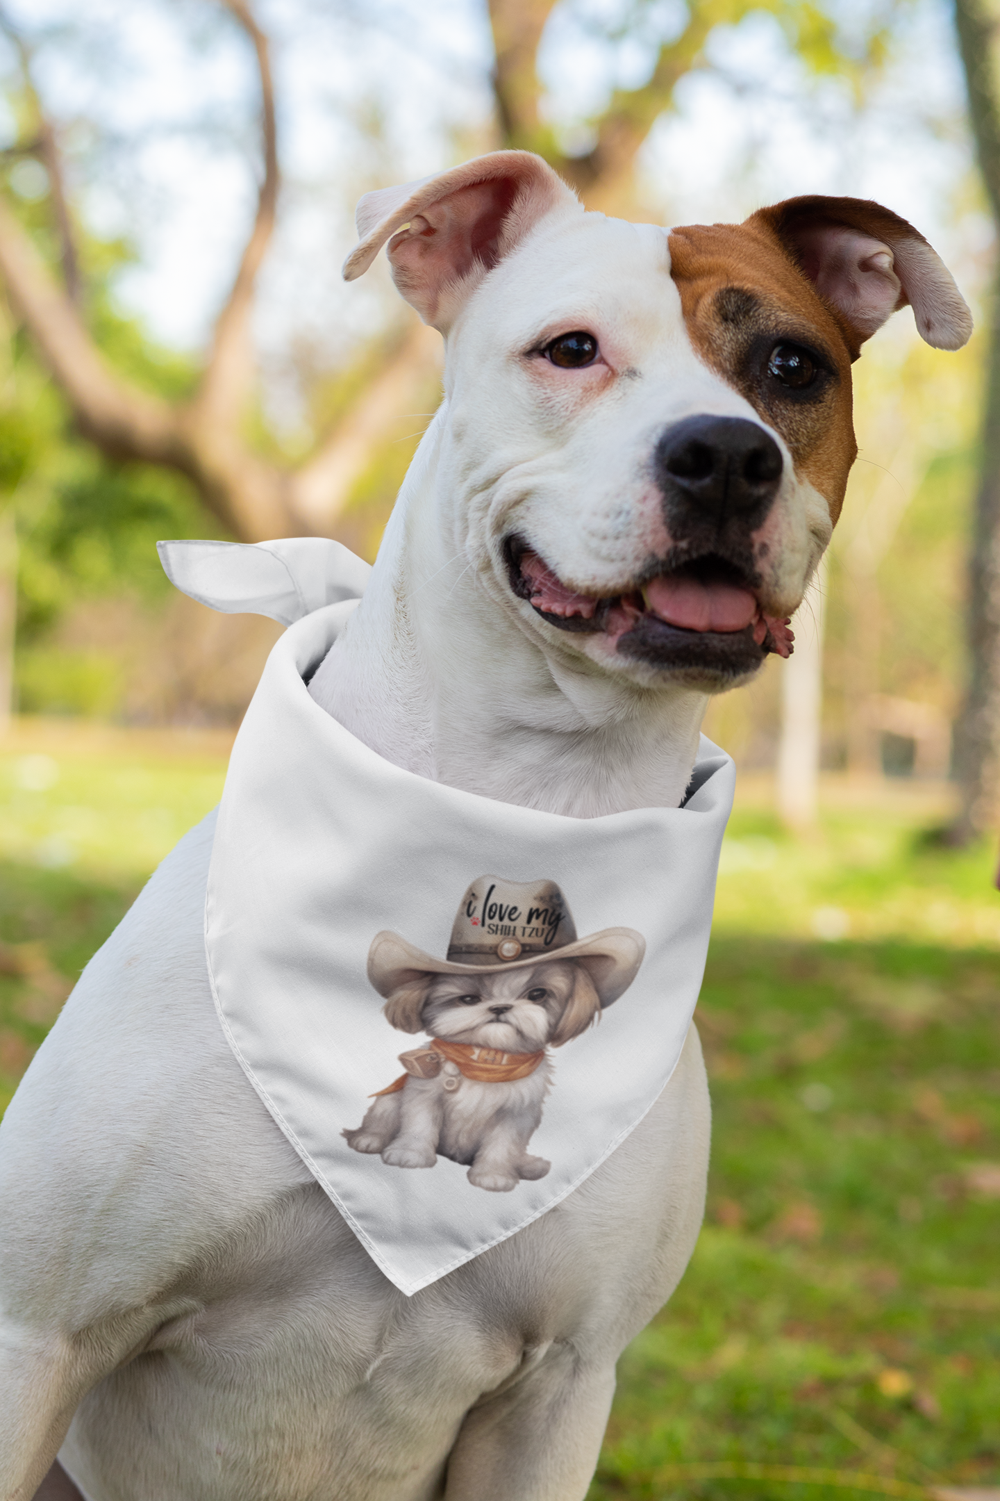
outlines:
[[[760,521],[781,483],[781,449],[744,417],[685,417],[660,438],[657,483],[669,504],[694,507],[702,519]]]

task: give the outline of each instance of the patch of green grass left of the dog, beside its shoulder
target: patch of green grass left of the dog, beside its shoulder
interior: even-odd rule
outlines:
[[[226,738],[27,720],[0,747],[0,1111],[90,955],[217,803]]]

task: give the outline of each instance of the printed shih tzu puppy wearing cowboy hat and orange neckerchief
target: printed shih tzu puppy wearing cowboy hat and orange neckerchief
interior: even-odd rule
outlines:
[[[555,1084],[550,1048],[586,1031],[636,979],[646,943],[633,928],[577,938],[555,881],[483,875],[468,887],[444,959],[394,932],[372,940],[367,976],[391,1027],[430,1042],[399,1061],[355,1130],[355,1151],[390,1168],[468,1166],[505,1193],[544,1178],[528,1151]]]

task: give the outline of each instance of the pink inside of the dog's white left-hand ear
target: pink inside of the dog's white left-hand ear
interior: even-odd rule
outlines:
[[[513,177],[472,183],[429,204],[388,242],[393,279],[426,323],[435,323],[441,294],[481,263],[501,254],[504,224],[517,195]]]

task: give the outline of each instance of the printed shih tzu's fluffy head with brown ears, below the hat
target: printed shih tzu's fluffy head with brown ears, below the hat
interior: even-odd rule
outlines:
[[[385,1016],[400,1031],[502,1052],[561,1048],[601,1013],[586,965],[546,959],[489,974],[415,974],[388,997]]]

